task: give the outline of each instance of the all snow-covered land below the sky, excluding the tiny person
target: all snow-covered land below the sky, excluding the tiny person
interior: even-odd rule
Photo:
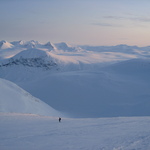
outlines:
[[[0,43],[0,149],[150,149],[149,46]]]

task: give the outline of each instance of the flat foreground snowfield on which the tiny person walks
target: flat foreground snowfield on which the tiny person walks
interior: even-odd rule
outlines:
[[[0,113],[2,150],[149,150],[150,117],[62,118]]]

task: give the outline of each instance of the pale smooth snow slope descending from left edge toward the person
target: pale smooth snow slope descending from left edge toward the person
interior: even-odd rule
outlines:
[[[0,79],[0,112],[59,116],[60,113],[14,83]]]

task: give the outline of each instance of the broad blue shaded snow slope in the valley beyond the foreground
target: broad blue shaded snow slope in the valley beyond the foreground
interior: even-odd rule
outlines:
[[[149,63],[137,59],[100,70],[55,73],[20,86],[74,117],[147,116]]]

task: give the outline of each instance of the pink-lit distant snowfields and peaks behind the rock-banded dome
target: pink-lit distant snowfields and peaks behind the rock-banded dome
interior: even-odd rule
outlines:
[[[2,41],[1,41],[2,42]],[[6,49],[6,52],[3,52],[1,55],[1,59],[11,58],[17,54],[17,52],[25,51],[25,50],[32,50],[38,49],[40,51],[47,51],[51,57],[54,57],[59,64],[68,64],[72,63],[81,67],[80,63],[83,65],[96,65],[96,64],[106,64],[112,62],[118,62],[122,60],[128,60],[131,58],[140,57],[142,54],[139,54],[138,50],[141,48],[138,47],[130,47],[126,46],[125,49],[122,46],[112,46],[112,47],[79,47],[79,46],[70,46],[64,42],[52,44],[50,42],[46,44],[41,44],[38,41],[14,41],[11,42],[13,48]],[[16,51],[19,49],[18,51]],[[13,54],[9,54],[8,50],[14,52]],[[136,51],[137,50],[137,51]],[[147,55],[149,52],[149,48],[145,48],[141,50],[143,55]],[[23,53],[21,53],[24,56]],[[21,55],[20,54],[20,55]],[[62,66],[61,66],[62,67]],[[87,67],[86,67],[87,68]],[[61,68],[64,69],[64,68]],[[68,68],[69,70],[70,68]],[[82,68],[84,69],[84,68]],[[66,69],[65,69],[66,70]]]

